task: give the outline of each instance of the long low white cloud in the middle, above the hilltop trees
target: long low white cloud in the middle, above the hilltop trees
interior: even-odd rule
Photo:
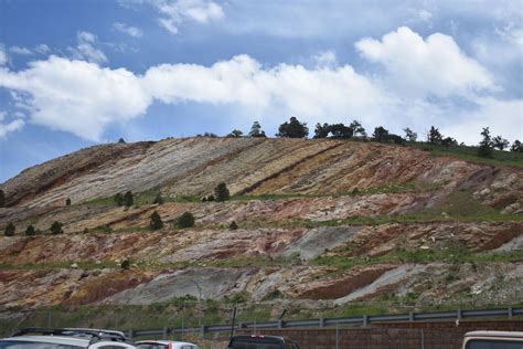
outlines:
[[[163,103],[237,104],[273,112],[267,114],[296,114],[309,123],[318,117],[340,120],[348,115],[384,120],[382,106],[388,103],[380,88],[350,65],[307,70],[279,64],[263,68],[248,55],[210,67],[162,64],[147,71],[143,86]]]

